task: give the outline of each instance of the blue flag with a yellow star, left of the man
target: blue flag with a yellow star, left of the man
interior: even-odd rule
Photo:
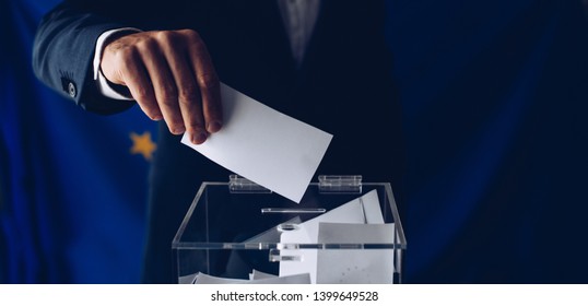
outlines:
[[[136,283],[155,125],[85,113],[33,75],[58,1],[1,0],[0,283]]]

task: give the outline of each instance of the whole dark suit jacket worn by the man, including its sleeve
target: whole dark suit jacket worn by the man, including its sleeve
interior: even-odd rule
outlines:
[[[401,195],[400,107],[384,40],[381,1],[324,0],[304,63],[296,68],[274,0],[67,1],[43,20],[34,69],[82,108],[113,114],[133,103],[105,98],[92,80],[97,36],[110,28],[193,28],[221,80],[334,138],[318,174],[362,174]],[[170,240],[203,180],[228,173],[161,125],[150,191],[145,282],[175,282]]]

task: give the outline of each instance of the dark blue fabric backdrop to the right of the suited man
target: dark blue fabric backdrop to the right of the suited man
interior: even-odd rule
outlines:
[[[588,282],[580,1],[388,1],[409,281]]]

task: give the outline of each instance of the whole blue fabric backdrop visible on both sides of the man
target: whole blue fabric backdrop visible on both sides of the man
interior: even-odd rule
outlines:
[[[0,1],[0,282],[138,282],[149,163],[129,133],[154,126],[138,108],[84,113],[36,81],[35,27],[56,3]],[[388,0],[387,13],[405,280],[588,282],[580,1]]]

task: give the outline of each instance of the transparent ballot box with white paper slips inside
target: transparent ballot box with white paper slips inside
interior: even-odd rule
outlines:
[[[295,203],[204,183],[174,240],[178,283],[400,283],[407,240],[388,183],[320,176]]]

